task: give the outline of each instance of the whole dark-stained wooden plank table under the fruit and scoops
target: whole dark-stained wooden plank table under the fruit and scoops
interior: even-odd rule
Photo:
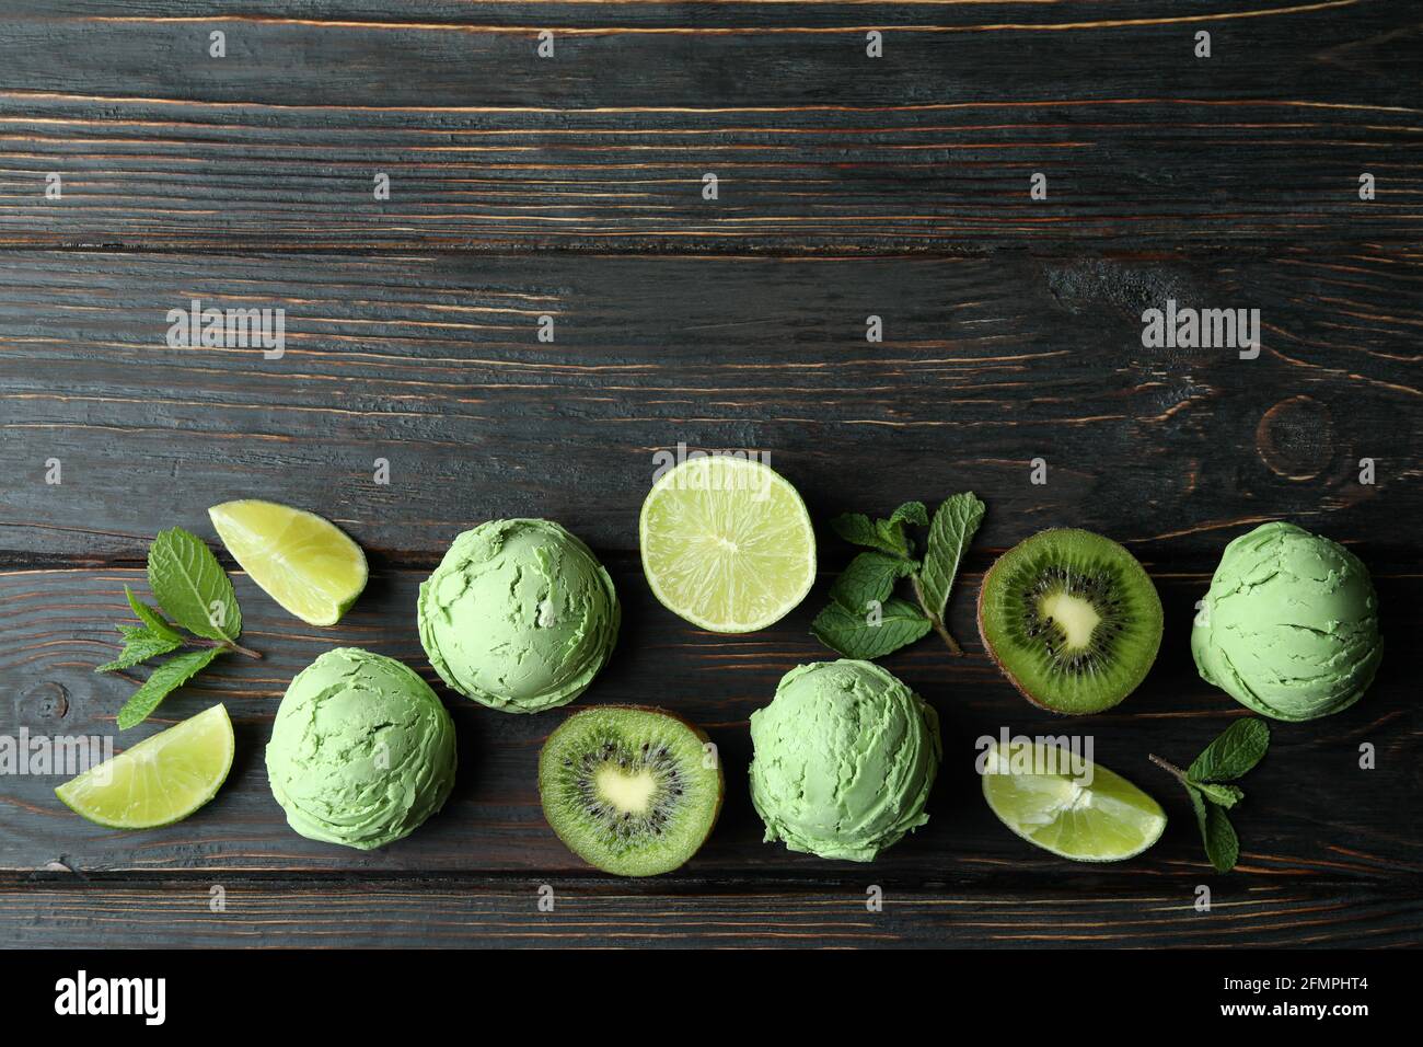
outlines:
[[[0,778],[0,943],[1423,943],[1419,23],[1409,0],[10,0],[0,732],[115,732],[139,674],[92,668],[122,587],[158,530],[211,538],[212,503],[322,513],[373,577],[317,630],[236,575],[266,657],[219,661],[134,732],[228,705],[236,765],[194,818],[111,832],[53,776]],[[283,308],[285,356],[168,348],[194,298]],[[1143,348],[1167,299],[1258,308],[1259,358]],[[807,627],[850,550],[821,527],[822,578],[771,630],[683,624],[636,533],[652,456],[679,442],[767,452],[821,526],[989,504],[952,605],[968,657],[931,640],[885,661],[939,709],[948,762],[931,823],[875,865],[761,843],[746,786],[747,717],[827,657]],[[622,642],[583,701],[662,702],[721,746],[721,825],[673,876],[592,875],[546,829],[535,761],[562,711],[441,691],[455,793],[376,853],[302,839],[269,793],[292,675],[356,644],[434,679],[416,585],[501,516],[562,521],[615,575]],[[1224,544],[1272,519],[1363,557],[1387,657],[1348,712],[1276,726],[1220,876],[1147,754],[1187,761],[1244,715],[1197,678],[1190,621]],[[1049,526],[1126,543],[1167,610],[1143,688],[1069,725],[999,677],[972,620],[992,558]],[[1000,726],[1090,731],[1161,799],[1164,839],[1096,868],[1012,836],[972,771]]]

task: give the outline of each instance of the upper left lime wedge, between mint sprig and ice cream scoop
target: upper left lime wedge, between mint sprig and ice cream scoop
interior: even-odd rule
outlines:
[[[366,588],[366,554],[330,520],[252,499],[208,516],[252,581],[307,625],[334,625]]]

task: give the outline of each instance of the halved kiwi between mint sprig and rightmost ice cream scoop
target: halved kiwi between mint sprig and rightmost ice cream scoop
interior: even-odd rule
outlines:
[[[1161,597],[1111,538],[1039,531],[983,575],[979,635],[1027,701],[1067,715],[1101,712],[1155,661]]]

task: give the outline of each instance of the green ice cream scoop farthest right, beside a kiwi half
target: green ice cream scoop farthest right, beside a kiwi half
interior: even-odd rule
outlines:
[[[1225,547],[1191,654],[1202,679],[1265,717],[1346,709],[1383,660],[1369,568],[1329,538],[1262,524]]]

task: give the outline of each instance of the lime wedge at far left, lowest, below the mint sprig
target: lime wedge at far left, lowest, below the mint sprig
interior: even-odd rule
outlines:
[[[218,795],[232,768],[232,721],[222,705],[145,738],[71,778],[54,795],[111,829],[181,822]]]

